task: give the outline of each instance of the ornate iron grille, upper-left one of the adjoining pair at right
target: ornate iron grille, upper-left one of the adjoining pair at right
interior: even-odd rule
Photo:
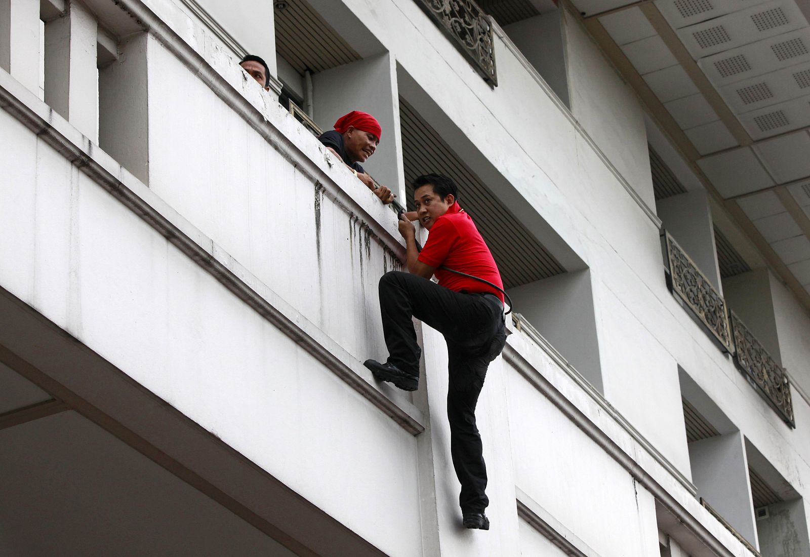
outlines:
[[[667,232],[668,283],[727,351],[732,352],[726,300]]]

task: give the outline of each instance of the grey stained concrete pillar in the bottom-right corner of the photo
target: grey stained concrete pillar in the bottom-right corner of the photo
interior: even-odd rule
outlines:
[[[759,550],[769,557],[810,555],[804,500],[783,501],[768,506],[768,517],[757,521]]]

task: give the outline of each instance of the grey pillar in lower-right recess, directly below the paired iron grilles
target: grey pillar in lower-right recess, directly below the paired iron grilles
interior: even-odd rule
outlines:
[[[689,443],[697,495],[742,536],[758,545],[743,435],[731,432]]]

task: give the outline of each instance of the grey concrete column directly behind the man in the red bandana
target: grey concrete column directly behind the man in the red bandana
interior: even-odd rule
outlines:
[[[382,126],[377,152],[363,163],[374,179],[388,186],[405,202],[405,173],[399,132],[399,91],[396,62],[389,53],[365,58],[314,74],[313,120],[322,130],[352,110],[373,114]]]

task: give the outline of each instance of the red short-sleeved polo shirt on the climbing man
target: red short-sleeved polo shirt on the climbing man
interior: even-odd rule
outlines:
[[[501,303],[504,301],[504,295],[488,284],[438,268],[445,266],[459,270],[503,288],[501,273],[498,272],[492,253],[470,215],[458,206],[458,202],[450,206],[430,227],[428,241],[419,254],[419,261],[437,268],[436,277],[445,288],[456,292],[492,292],[501,299]]]

